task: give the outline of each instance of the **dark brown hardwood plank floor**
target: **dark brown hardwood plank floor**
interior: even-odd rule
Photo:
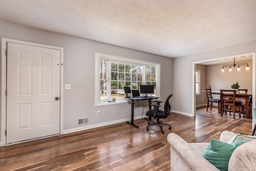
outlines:
[[[249,135],[252,120],[236,119],[218,114],[217,109],[206,112],[197,109],[196,118],[171,113],[172,129],[157,126],[146,131],[146,119],[136,119],[133,127],[126,122],[84,131],[0,147],[0,171],[167,171],[170,170],[168,133],[174,132],[187,142],[210,142],[219,139],[224,130]]]

